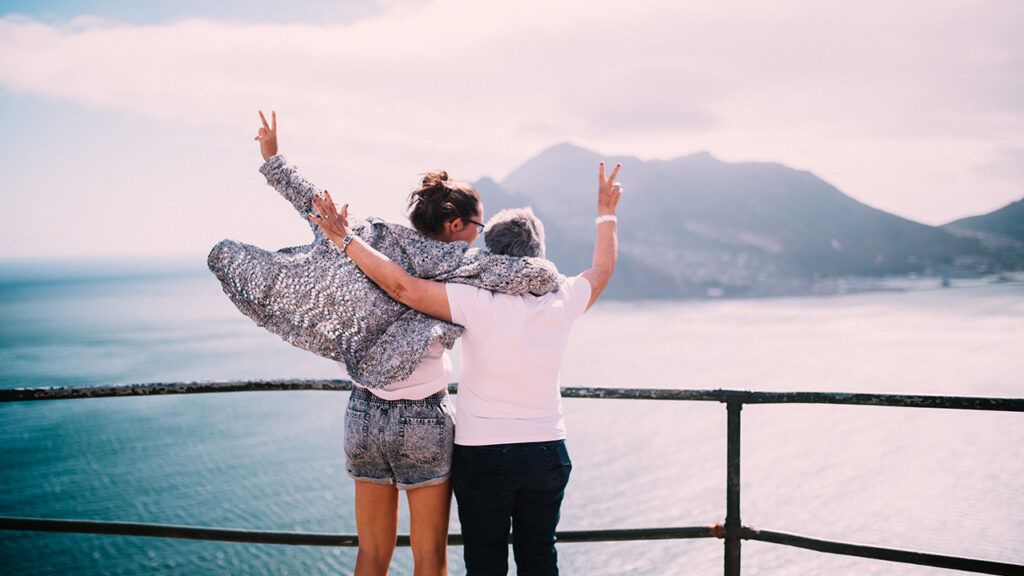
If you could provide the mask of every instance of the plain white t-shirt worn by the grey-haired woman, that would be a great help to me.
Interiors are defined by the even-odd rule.
[[[543,296],[464,284],[445,289],[452,322],[465,328],[455,443],[564,439],[558,374],[569,329],[590,302],[590,282],[568,278],[557,292]]]

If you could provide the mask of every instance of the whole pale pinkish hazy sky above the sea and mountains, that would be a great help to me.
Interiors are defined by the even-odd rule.
[[[0,257],[307,242],[258,109],[389,218],[426,170],[500,180],[563,141],[780,162],[930,224],[1024,197],[1017,0],[76,4],[0,2]]]

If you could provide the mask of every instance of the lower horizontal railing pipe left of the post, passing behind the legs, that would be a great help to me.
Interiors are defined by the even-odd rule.
[[[358,538],[353,534],[266,532],[259,530],[228,530],[223,528],[171,526],[163,524],[41,518],[0,517],[0,530],[59,532],[65,534],[112,534],[117,536],[147,536],[156,538],[179,538],[186,540],[213,540],[220,542],[287,544],[293,546],[358,545]],[[636,540],[712,538],[714,537],[714,533],[710,526],[692,526],[680,528],[638,528],[631,530],[577,530],[558,532],[556,536],[560,543],[626,542]],[[462,534],[449,535],[450,546],[461,546],[462,544]],[[398,536],[398,545],[408,546],[409,536]]]

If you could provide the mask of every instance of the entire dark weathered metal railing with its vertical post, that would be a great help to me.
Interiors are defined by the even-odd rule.
[[[111,386],[80,386],[52,388],[15,388],[0,390],[0,402],[67,400],[80,398],[111,398],[168,394],[204,394],[258,390],[350,390],[348,380],[256,380],[223,382],[175,382]],[[451,390],[457,393],[457,386]],[[602,388],[565,387],[563,398],[606,398],[620,400],[670,400],[720,402],[726,405],[726,516],[725,524],[676,528],[609,529],[560,531],[559,542],[606,542],[663,540],[686,538],[722,538],[724,540],[724,574],[738,576],[742,540],[758,540],[795,546],[833,554],[852,556],[889,562],[963,570],[981,574],[1024,574],[1024,565],[991,562],[953,556],[926,553],[879,546],[865,546],[755,530],[743,526],[739,513],[740,415],[744,404],[844,404],[858,406],[896,406],[910,408],[944,408],[954,410],[989,410],[1024,412],[1024,399],[971,398],[954,396],[904,396],[842,393],[771,393],[744,390],[684,390],[663,388]],[[116,534],[193,540],[217,540],[263,544],[304,546],[356,546],[358,539],[351,534],[312,534],[297,532],[263,532],[227,530],[189,526],[168,526],[80,520],[0,517],[0,530],[61,532],[80,534]],[[398,545],[408,546],[409,536],[398,536]],[[450,545],[462,545],[462,535],[449,536]]]

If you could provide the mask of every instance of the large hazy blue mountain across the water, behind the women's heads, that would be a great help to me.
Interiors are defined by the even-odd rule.
[[[475,182],[487,214],[530,205],[548,256],[567,274],[590,265],[597,165],[623,163],[618,297],[766,296],[828,291],[836,279],[985,272],[995,256],[973,237],[862,204],[806,171],[726,163],[604,158],[552,147],[501,182]]]

